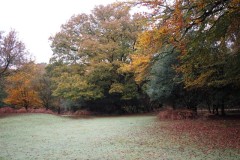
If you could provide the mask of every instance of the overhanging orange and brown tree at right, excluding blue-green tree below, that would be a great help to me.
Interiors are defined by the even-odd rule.
[[[135,1],[151,9],[149,26],[138,38],[138,53],[153,58],[173,45],[180,52],[179,66],[185,88],[218,97],[224,114],[224,101],[239,87],[239,4],[216,1]],[[174,53],[169,51],[169,53]],[[231,63],[232,61],[232,63]],[[149,61],[149,66],[152,60]],[[133,61],[134,63],[134,61]],[[149,73],[149,68],[145,73]],[[142,76],[144,77],[144,76]],[[147,77],[147,75],[145,75]],[[224,93],[224,94],[222,94]],[[223,99],[223,100],[222,100]],[[212,100],[213,101],[213,100]]]

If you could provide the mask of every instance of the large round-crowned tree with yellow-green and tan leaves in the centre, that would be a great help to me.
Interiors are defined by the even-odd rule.
[[[121,101],[130,98],[125,86],[132,86],[128,92],[130,88],[132,93],[137,90],[135,82],[119,71],[122,64],[129,63],[137,34],[142,31],[144,17],[131,15],[130,9],[124,3],[97,6],[90,15],[73,16],[50,38],[54,52],[50,72],[68,70],[52,73],[56,96],[120,109]]]

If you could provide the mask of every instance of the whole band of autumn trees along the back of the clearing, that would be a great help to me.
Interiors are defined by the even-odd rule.
[[[1,107],[239,109],[239,0],[100,5],[72,16],[49,40],[49,64],[35,64],[15,31],[0,32]]]

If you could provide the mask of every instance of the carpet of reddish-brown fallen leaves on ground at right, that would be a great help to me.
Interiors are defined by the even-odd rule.
[[[180,138],[186,135],[191,144],[197,144],[203,150],[240,149],[239,120],[185,120],[174,121],[165,129],[182,144],[189,143]]]

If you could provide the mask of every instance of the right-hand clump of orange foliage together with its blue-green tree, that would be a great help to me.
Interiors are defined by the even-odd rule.
[[[193,110],[204,103],[221,108],[222,115],[227,104],[236,105],[239,0],[135,2],[149,9],[149,21],[138,36],[135,53],[150,59],[147,67],[132,67],[132,73],[136,82],[142,80],[150,99]],[[164,58],[169,55],[175,57]],[[141,61],[145,63],[132,58],[130,66]]]

